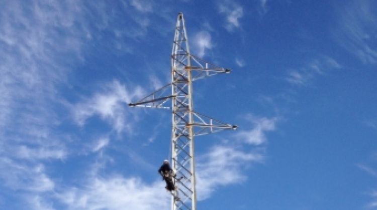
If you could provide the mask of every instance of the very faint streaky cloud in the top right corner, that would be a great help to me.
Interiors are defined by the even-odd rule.
[[[348,1],[337,5],[337,27],[334,40],[364,64],[377,63],[377,3],[372,0]]]

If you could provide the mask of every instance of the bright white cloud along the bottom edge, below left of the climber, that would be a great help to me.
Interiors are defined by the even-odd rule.
[[[167,209],[170,194],[163,181],[150,185],[140,178],[114,175],[91,177],[81,188],[71,187],[58,194],[69,209]]]

